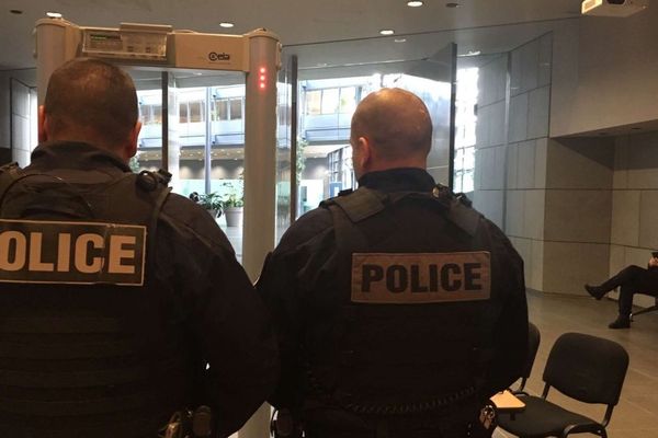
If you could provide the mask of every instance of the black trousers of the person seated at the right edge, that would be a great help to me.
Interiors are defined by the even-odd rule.
[[[605,289],[605,291],[611,291],[619,287],[620,314],[629,315],[635,293],[658,297],[658,267],[649,267],[647,269],[636,265],[626,266],[600,287]]]

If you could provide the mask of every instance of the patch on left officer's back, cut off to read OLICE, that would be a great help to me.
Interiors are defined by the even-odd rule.
[[[0,219],[0,281],[144,285],[146,227]]]

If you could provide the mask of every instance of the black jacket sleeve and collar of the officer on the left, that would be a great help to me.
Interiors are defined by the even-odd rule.
[[[38,146],[27,170],[99,182],[131,172],[118,157],[73,142]],[[114,203],[122,208],[121,199]],[[196,371],[209,365],[204,396],[218,435],[229,435],[271,394],[279,374],[266,309],[216,222],[177,194],[169,195],[158,219],[155,277],[159,302],[145,320],[167,331],[155,337],[184,336],[179,354]]]

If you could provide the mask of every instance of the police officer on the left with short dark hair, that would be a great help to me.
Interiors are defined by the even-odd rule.
[[[279,359],[228,240],[164,173],[131,172],[121,69],[67,62],[38,115],[32,164],[0,175],[0,436],[156,437],[198,406],[198,434],[230,435]]]

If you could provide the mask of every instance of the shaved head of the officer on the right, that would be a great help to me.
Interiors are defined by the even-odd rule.
[[[358,178],[394,168],[424,169],[432,146],[430,113],[417,95],[382,89],[356,107],[350,143]]]

